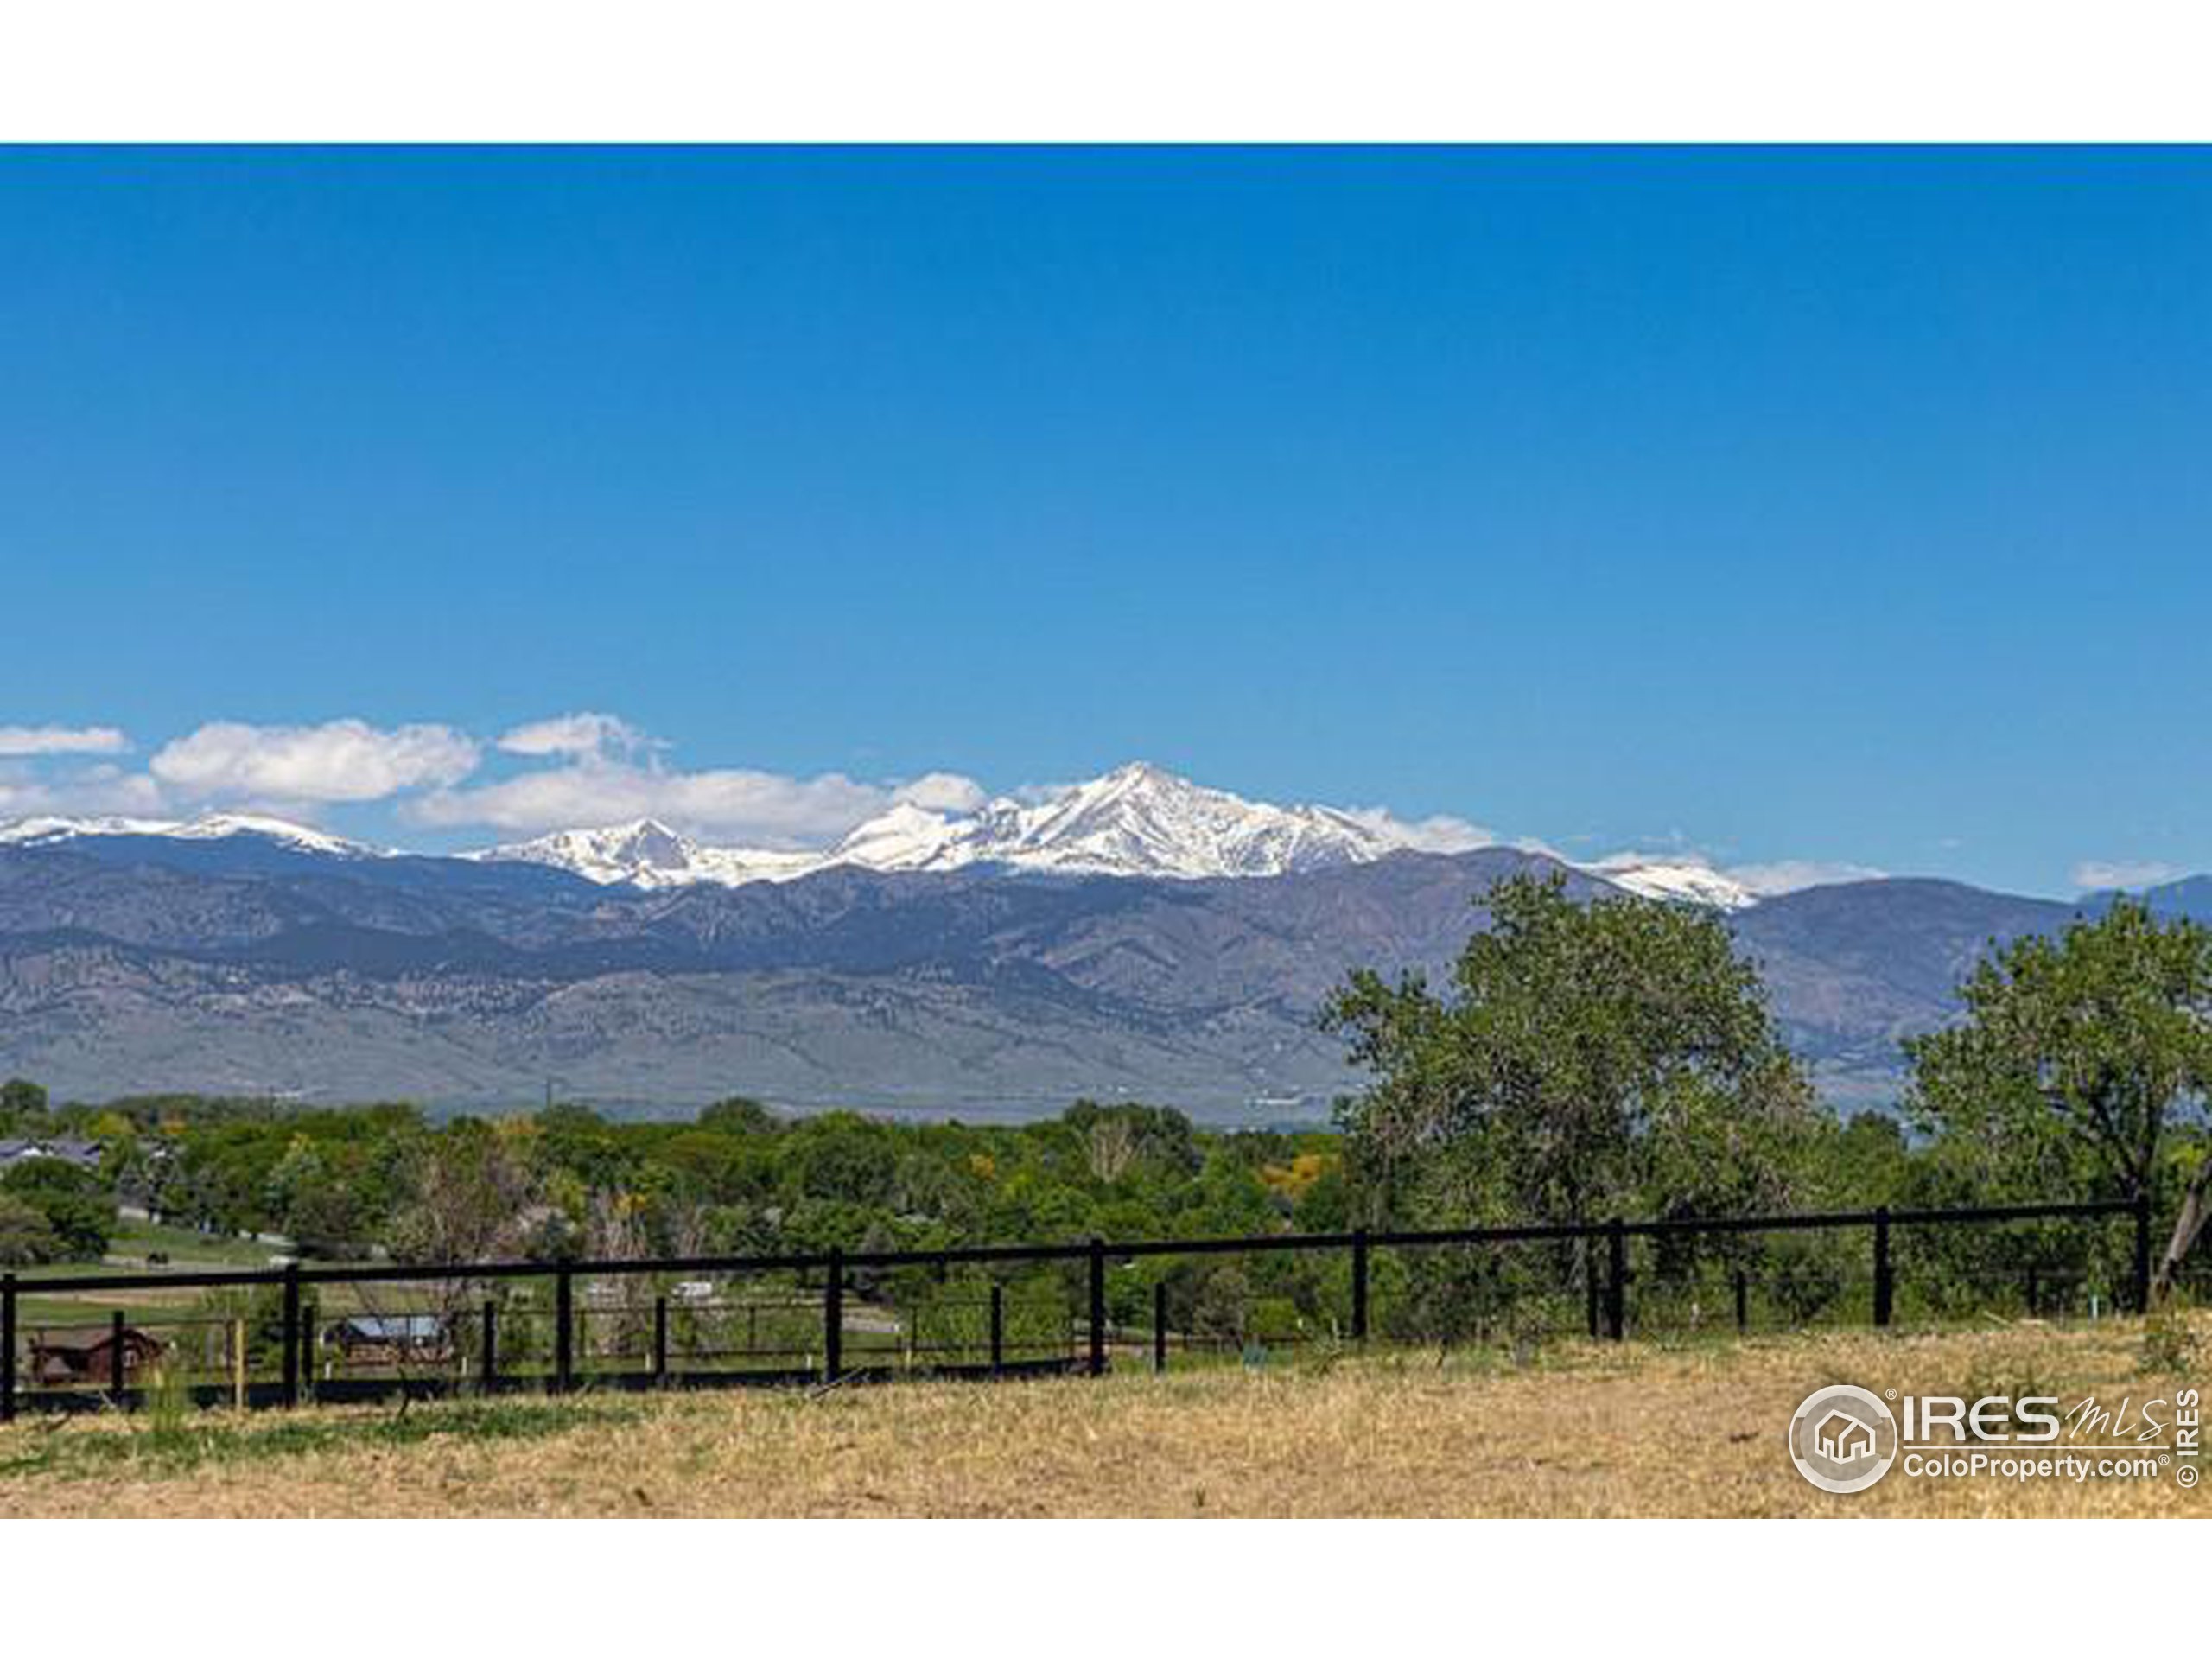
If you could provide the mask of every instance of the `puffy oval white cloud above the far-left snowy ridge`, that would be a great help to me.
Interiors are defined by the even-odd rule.
[[[164,745],[153,757],[153,776],[190,799],[383,801],[458,783],[476,770],[476,739],[451,726],[212,721]]]

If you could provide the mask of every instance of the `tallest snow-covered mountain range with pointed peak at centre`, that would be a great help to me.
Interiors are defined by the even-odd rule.
[[[1206,790],[1141,761],[1040,803],[989,801],[973,812],[900,803],[825,852],[708,847],[644,821],[562,830],[471,858],[557,865],[597,883],[677,887],[792,880],[814,869],[1006,869],[1155,876],[1283,876],[1358,865],[1411,847],[1405,832],[1334,807],[1279,807]]]

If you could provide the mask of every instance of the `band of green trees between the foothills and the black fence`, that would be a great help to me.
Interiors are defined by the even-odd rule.
[[[1568,898],[1511,876],[1444,984],[1360,971],[1323,1018],[1369,1086],[1332,1128],[1210,1130],[1172,1106],[1079,1102],[1029,1124],[783,1117],[723,1099],[690,1121],[584,1106],[434,1119],[409,1104],[279,1108],[159,1095],[51,1104],[0,1086],[0,1137],[80,1135],[0,1177],[0,1261],[104,1248],[115,1201],[334,1259],[580,1259],[936,1250],[1082,1237],[1451,1228],[2150,1194],[2172,1230],[2161,1285],[2203,1225],[2212,933],[2121,902],[1989,951],[1962,1018],[1907,1040],[1898,1113],[1825,1108],[1781,1042],[1721,916]],[[1843,1241],[1721,1239],[1641,1272],[1692,1296],[1752,1272],[1790,1318],[1849,1294]],[[2117,1279],[2106,1243],[2011,1232],[1924,1241],[1929,1296],[2022,1259]],[[1161,1265],[1192,1310],[1327,1323],[1323,1261]],[[1214,1283],[1221,1281],[1221,1283]],[[1562,1318],[1579,1250],[1438,1252],[1385,1270],[1422,1329]],[[1128,1296],[1148,1294],[1130,1283]],[[1119,1292],[1117,1292],[1119,1294]],[[1223,1314],[1230,1318],[1230,1314]]]

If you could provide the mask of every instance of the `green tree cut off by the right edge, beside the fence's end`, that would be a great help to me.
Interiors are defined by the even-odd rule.
[[[1964,1022],[1911,1037],[1907,1110],[1993,1186],[2135,1199],[2185,1170],[2163,1292],[2205,1223],[2212,1179],[2212,929],[2121,900],[2057,938],[1982,958]]]

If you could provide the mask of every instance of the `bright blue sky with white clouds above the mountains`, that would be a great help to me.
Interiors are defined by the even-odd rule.
[[[2070,891],[2212,867],[2208,453],[2203,153],[13,153],[0,816]]]

